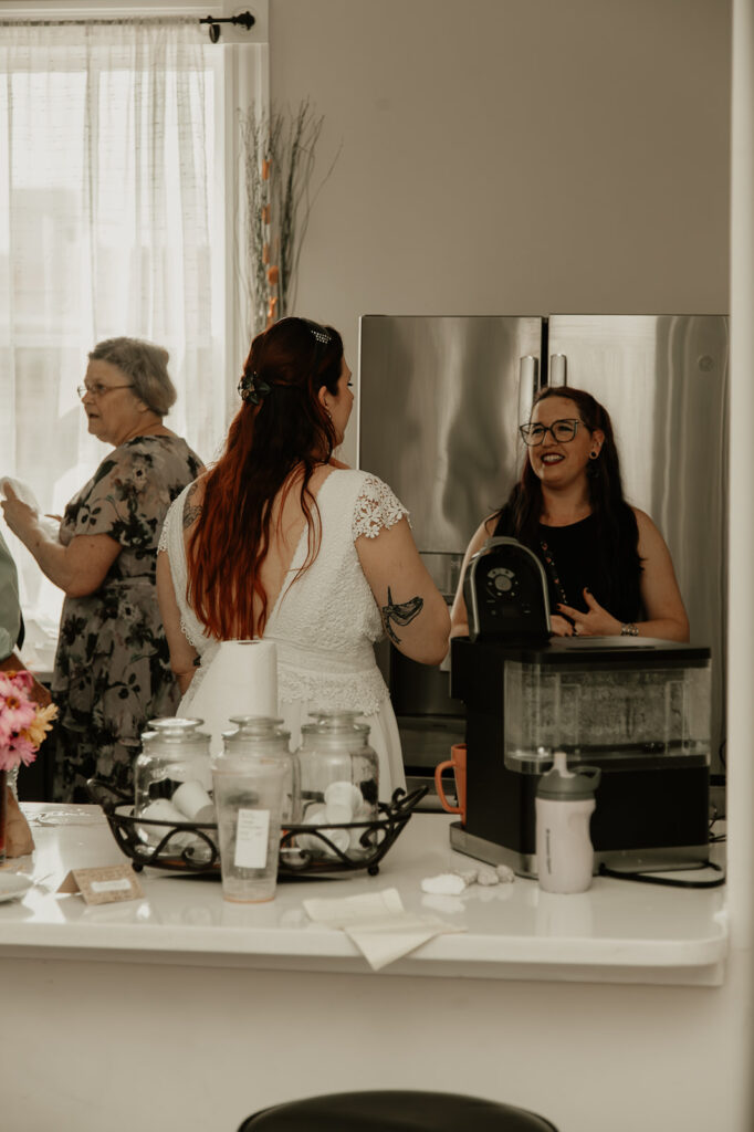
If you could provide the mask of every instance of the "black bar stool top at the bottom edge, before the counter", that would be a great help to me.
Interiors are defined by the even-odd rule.
[[[334,1092],[264,1108],[238,1132],[557,1132],[543,1116],[455,1092]]]

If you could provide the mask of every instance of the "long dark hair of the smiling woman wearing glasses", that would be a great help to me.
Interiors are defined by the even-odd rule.
[[[612,608],[635,610],[632,616],[639,617],[642,571],[639,556],[639,528],[636,516],[623,494],[620,457],[610,414],[591,393],[574,389],[568,385],[546,386],[541,389],[534,398],[532,413],[534,408],[548,397],[573,401],[579,410],[579,417],[589,431],[601,429],[605,434],[599,456],[590,461],[586,469],[589,500],[597,522],[600,548],[599,565],[603,580],[603,600],[609,610]],[[541,512],[542,486],[526,455],[521,477],[513,487],[505,507],[498,512],[498,516],[506,520],[514,538],[537,551]]]

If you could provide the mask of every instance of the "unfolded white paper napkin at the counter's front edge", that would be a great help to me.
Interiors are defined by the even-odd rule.
[[[436,935],[465,932],[464,927],[438,916],[404,911],[396,889],[332,900],[305,900],[303,907],[318,924],[342,928],[375,971],[408,955]]]

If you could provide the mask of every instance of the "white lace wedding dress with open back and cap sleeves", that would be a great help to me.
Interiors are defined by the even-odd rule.
[[[186,491],[168,512],[160,549],[170,559],[181,628],[200,657],[178,709],[181,715],[190,715],[191,701],[219,644],[205,635],[186,601],[185,498]],[[264,633],[264,640],[274,641],[277,649],[279,712],[295,749],[301,723],[310,722],[309,712],[358,711],[360,721],[369,724],[369,743],[379,756],[380,800],[388,801],[396,787],[405,787],[403,757],[395,713],[372,649],[383,636],[382,617],[354,541],[362,534],[376,538],[408,512],[376,475],[350,469],[329,473],[317,494],[317,506],[322,518],[317,558],[295,578],[307,556],[305,526]]]

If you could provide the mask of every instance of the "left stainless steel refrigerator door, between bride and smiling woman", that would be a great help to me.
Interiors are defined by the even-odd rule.
[[[421,551],[462,554],[507,496],[541,329],[539,317],[361,317],[359,466],[409,508]]]

